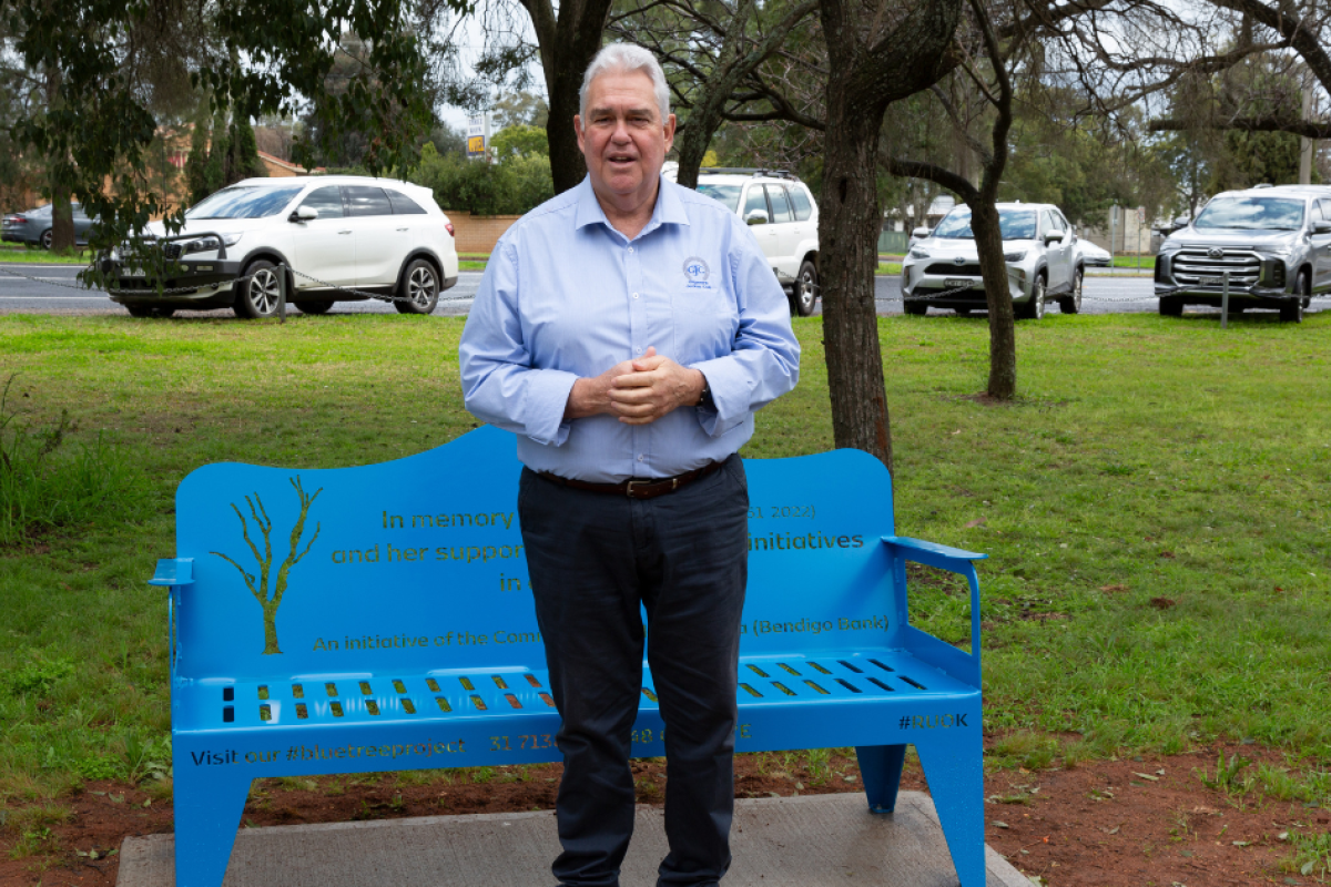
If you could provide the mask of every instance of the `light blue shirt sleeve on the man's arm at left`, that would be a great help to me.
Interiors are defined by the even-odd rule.
[[[546,445],[568,439],[564,407],[578,376],[532,366],[518,305],[519,263],[500,242],[462,331],[458,358],[462,396],[471,415]]]

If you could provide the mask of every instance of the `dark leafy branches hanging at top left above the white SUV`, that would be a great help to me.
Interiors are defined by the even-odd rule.
[[[466,5],[446,0],[438,8]],[[169,90],[157,88],[166,82],[188,82],[209,96],[214,113],[237,120],[290,117],[310,102],[310,120],[326,137],[371,133],[363,162],[383,169],[409,156],[431,118],[431,96],[419,89],[429,69],[411,27],[419,15],[421,4],[397,0],[274,0],[262,11],[174,0],[73,7],[0,0],[12,57],[28,70],[49,72],[55,84],[49,100],[21,113],[11,132],[49,158],[51,181],[98,218],[96,246],[141,234],[169,209],[164,194],[140,181],[145,152],[170,122],[164,117],[176,113],[162,100]],[[330,94],[339,47],[327,37],[353,29],[374,40]],[[298,141],[293,154],[306,162],[309,142]]]

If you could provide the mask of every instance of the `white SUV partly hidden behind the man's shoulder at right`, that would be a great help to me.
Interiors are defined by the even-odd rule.
[[[663,169],[675,181],[677,165]],[[707,168],[697,193],[729,207],[753,227],[759,246],[791,299],[808,317],[819,301],[819,205],[795,174],[768,169]]]

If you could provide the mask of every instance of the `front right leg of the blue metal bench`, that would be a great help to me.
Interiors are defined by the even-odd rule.
[[[980,713],[974,715],[980,721]],[[940,731],[942,733],[942,731]],[[985,767],[980,730],[916,746],[961,887],[985,887]]]

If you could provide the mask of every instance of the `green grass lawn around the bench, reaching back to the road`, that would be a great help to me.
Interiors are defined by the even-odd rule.
[[[0,549],[0,809],[169,762],[172,496],[210,461],[339,467],[474,427],[462,319],[285,326],[0,317],[7,411],[114,447],[146,500]],[[988,330],[878,320],[902,535],[981,564],[993,761],[1046,766],[1217,737],[1331,759],[1331,313],[1051,315],[1018,324],[1021,399],[982,406]],[[823,328],[796,320],[799,390],[751,457],[832,447]],[[966,597],[912,596],[965,642]],[[1331,783],[1328,783],[1331,785]],[[1328,798],[1331,801],[1331,798]]]

